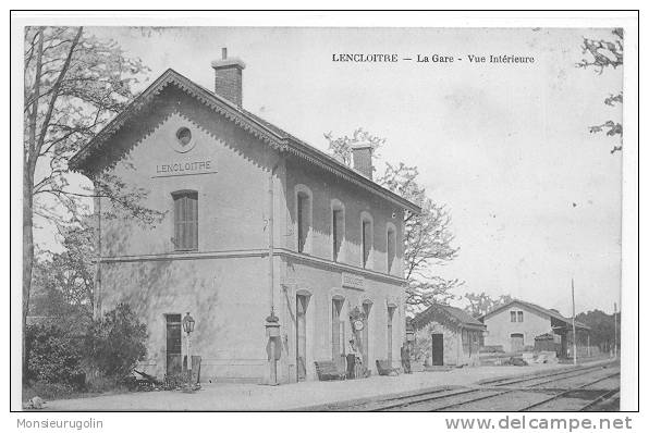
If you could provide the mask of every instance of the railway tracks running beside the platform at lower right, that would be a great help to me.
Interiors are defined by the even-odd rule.
[[[604,410],[619,406],[620,369],[612,363],[500,378],[340,407],[363,411]],[[612,410],[612,409],[608,409]]]

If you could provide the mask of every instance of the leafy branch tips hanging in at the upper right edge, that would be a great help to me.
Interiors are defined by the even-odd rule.
[[[613,40],[584,38],[581,51],[587,58],[577,63],[578,67],[592,67],[597,73],[602,74],[608,67],[617,69],[624,61],[624,30],[615,28],[612,30]],[[623,102],[623,91],[611,94],[604,99],[604,103],[614,107]],[[599,125],[590,126],[591,133],[605,132],[608,136],[620,136],[620,146],[614,146],[611,153],[622,151],[622,123],[612,120]]]

